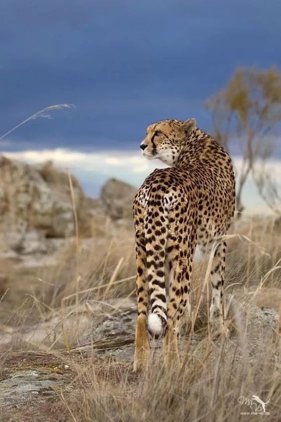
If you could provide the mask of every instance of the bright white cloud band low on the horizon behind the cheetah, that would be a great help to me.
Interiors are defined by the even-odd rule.
[[[98,195],[99,187],[109,177],[116,177],[139,187],[145,177],[155,168],[165,165],[158,160],[145,160],[139,152],[130,151],[102,151],[85,153],[81,151],[57,148],[53,150],[26,150],[18,152],[4,152],[6,157],[40,163],[52,160],[61,169],[69,167],[79,178],[82,186],[89,195]],[[234,157],[235,173],[242,168],[242,159]],[[257,163],[257,169],[262,170],[262,164]],[[272,160],[267,165],[275,178],[281,179],[281,162]],[[249,212],[268,211],[264,202],[259,198],[255,185],[251,179],[245,185],[243,201]]]

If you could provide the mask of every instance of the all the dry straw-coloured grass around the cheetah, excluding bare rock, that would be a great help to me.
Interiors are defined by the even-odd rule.
[[[281,240],[271,221],[252,221],[239,230],[241,235],[228,239],[226,271],[226,306],[234,298],[235,303],[266,306],[280,311],[281,302]],[[18,270],[7,278],[6,286],[13,285],[17,291],[29,293],[27,303],[21,307],[16,302],[12,317],[2,316],[6,327],[17,330],[32,318],[45,321],[50,315],[62,315],[62,309],[84,307],[87,302],[107,302],[117,297],[134,297],[135,250],[133,233],[120,230],[112,234],[108,226],[105,236],[77,243],[66,244],[57,256],[53,267],[28,269],[24,287],[19,289]],[[122,233],[122,234],[121,234]],[[250,241],[247,238],[251,239]],[[1,409],[1,421],[279,421],[281,414],[281,351],[278,332],[264,333],[259,343],[259,353],[252,359],[253,338],[245,338],[243,328],[232,320],[228,322],[233,337],[227,342],[214,345],[208,338],[208,300],[206,288],[201,297],[207,262],[195,263],[191,289],[193,310],[198,307],[194,321],[195,340],[186,355],[184,370],[162,368],[158,355],[143,375],[132,373],[132,363],[115,358],[101,359],[87,348],[74,351],[75,336],[70,337],[63,329],[59,341],[51,349],[52,355],[41,351],[42,360],[56,356],[60,362],[67,360],[72,368],[68,388],[59,389],[56,397],[37,401],[32,406],[22,406],[11,418],[9,408]],[[10,270],[10,269],[9,269]],[[13,281],[12,281],[13,280]],[[29,283],[28,283],[29,280]],[[9,284],[9,283],[13,284]],[[13,293],[15,294],[15,293]],[[29,298],[28,298],[29,297]],[[12,303],[9,293],[3,298]],[[34,299],[35,298],[35,299]],[[21,297],[21,299],[24,299]],[[17,299],[18,300],[18,299]],[[234,306],[235,307],[235,306]],[[233,308],[233,307],[232,307]],[[233,309],[232,309],[233,310]],[[98,326],[103,315],[91,315],[92,324]],[[74,311],[71,311],[72,313]],[[103,311],[105,312],[105,311]],[[120,315],[107,309],[111,315]],[[81,313],[80,313],[81,314]],[[280,313],[281,315],[281,313]],[[281,321],[280,321],[281,325]],[[277,330],[278,331],[278,330]],[[188,331],[189,332],[189,331]],[[235,337],[234,337],[235,336]],[[234,341],[234,339],[237,339]],[[125,341],[126,338],[120,339]],[[94,339],[95,340],[95,339]],[[105,341],[105,340],[104,340]],[[116,342],[107,339],[109,348]],[[128,340],[132,343],[132,339]],[[187,342],[187,341],[186,341]],[[102,343],[102,342],[101,342]],[[126,343],[124,343],[126,344]],[[119,346],[121,343],[119,344]],[[100,344],[101,346],[101,344]],[[2,356],[2,365],[9,356],[16,356],[16,349]],[[22,342],[20,350],[36,350],[31,343]],[[76,350],[79,350],[79,348]],[[69,353],[67,353],[70,352]],[[64,352],[63,354],[61,354]],[[183,352],[184,353],[184,352]],[[37,355],[36,355],[37,356]],[[39,360],[40,360],[39,359]],[[36,357],[38,361],[38,356]],[[36,361],[36,362],[37,362]],[[238,403],[240,396],[251,399],[258,395],[264,401],[271,398],[267,410],[269,416],[242,415],[253,411]],[[47,403],[47,405],[46,405]]]

